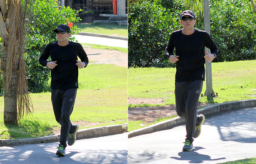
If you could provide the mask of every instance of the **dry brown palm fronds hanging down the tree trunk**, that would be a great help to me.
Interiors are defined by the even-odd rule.
[[[12,0],[14,7],[11,12],[11,19],[8,24],[8,49],[7,62],[5,72],[4,95],[11,87],[16,88],[18,121],[24,114],[32,113],[33,104],[28,92],[28,83],[25,69],[25,47],[24,42],[28,29],[26,27],[26,13],[29,12],[28,7],[31,6],[31,0]],[[8,5],[11,6],[9,1]],[[9,6],[9,7],[10,7]],[[32,110],[32,111],[31,111]]]

